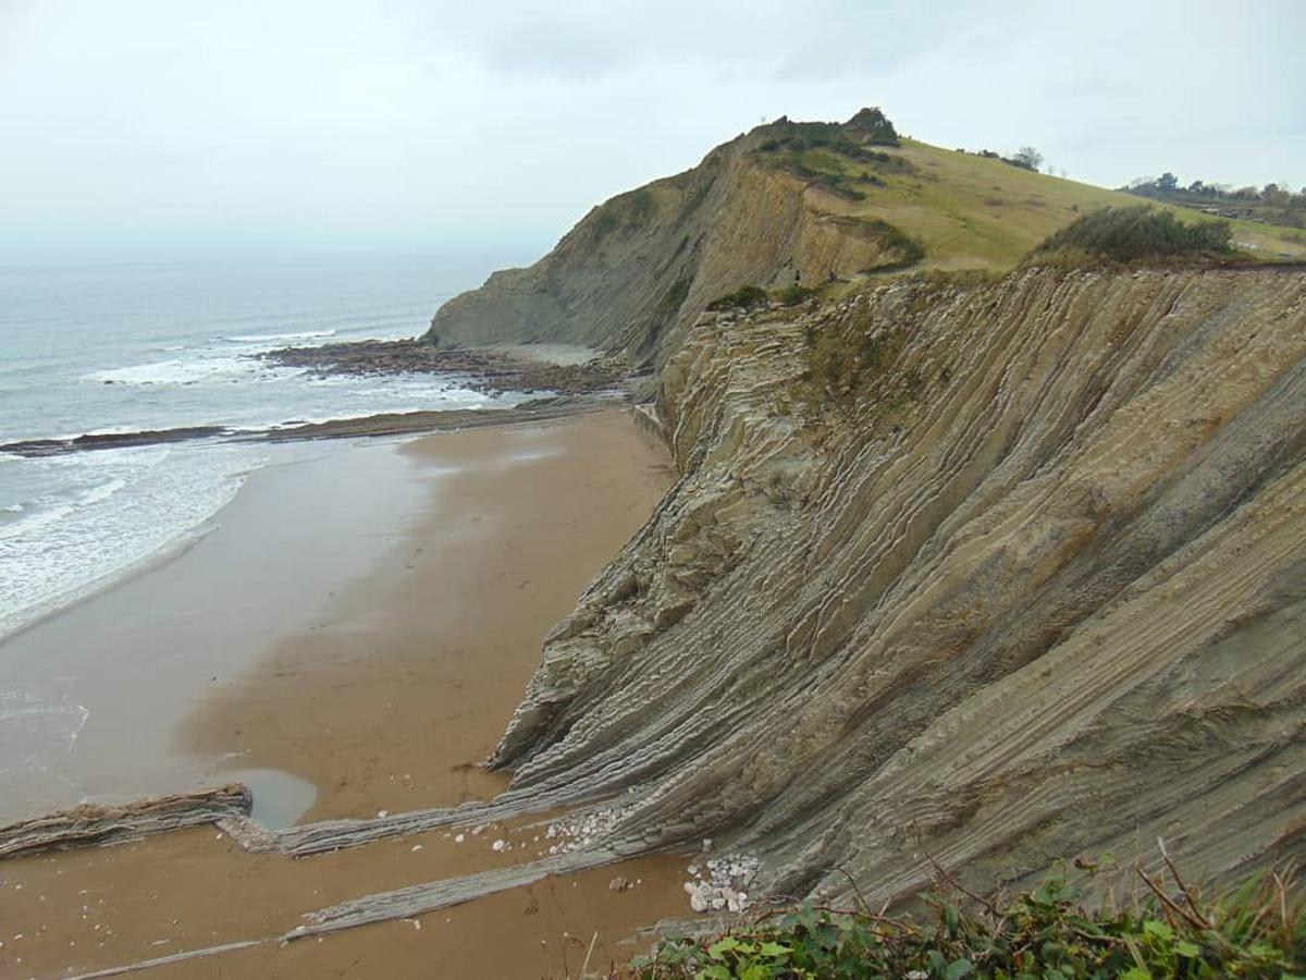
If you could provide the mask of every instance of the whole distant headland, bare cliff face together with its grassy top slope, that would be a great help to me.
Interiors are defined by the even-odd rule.
[[[445,303],[426,338],[562,341],[661,366],[713,299],[743,285],[855,281],[904,265],[1008,269],[1081,208],[1131,200],[897,144],[875,110],[842,125],[757,127],[692,170],[594,208],[530,268]]]

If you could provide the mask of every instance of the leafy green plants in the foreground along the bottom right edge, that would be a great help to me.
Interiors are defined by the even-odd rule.
[[[1169,864],[1169,860],[1166,861]],[[1174,873],[1173,865],[1170,865]],[[1164,889],[1139,872],[1147,898],[1091,911],[1064,873],[1011,900],[960,890],[922,895],[929,916],[804,903],[705,939],[667,939],[636,960],[641,980],[1152,980],[1276,977],[1306,971],[1306,915],[1293,882],[1267,874],[1205,899],[1174,874]]]

